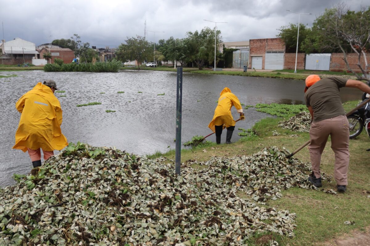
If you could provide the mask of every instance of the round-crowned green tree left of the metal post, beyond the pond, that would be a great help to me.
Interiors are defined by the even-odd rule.
[[[144,37],[136,36],[127,37],[125,40],[126,44],[118,46],[118,50],[115,52],[117,59],[122,62],[128,62],[129,60],[135,60],[140,69],[140,64],[145,61],[146,58],[153,57],[153,49],[148,41]]]

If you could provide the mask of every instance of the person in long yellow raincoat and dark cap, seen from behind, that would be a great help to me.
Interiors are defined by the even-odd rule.
[[[47,160],[54,155],[54,149],[61,150],[68,145],[60,129],[62,110],[54,96],[55,90],[58,89],[54,80],[39,82],[16,103],[21,118],[13,149],[28,150],[33,167],[41,166],[40,148]]]

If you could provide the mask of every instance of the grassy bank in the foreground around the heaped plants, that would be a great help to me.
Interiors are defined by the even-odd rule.
[[[352,101],[344,104],[344,108],[349,112],[358,102]],[[306,132],[292,132],[288,129],[277,127],[277,122],[282,118],[266,118],[256,123],[253,127],[258,134],[258,138],[251,140],[240,139],[230,145],[215,143],[209,146],[198,146],[194,149],[184,149],[181,152],[181,162],[189,159],[199,161],[209,160],[212,156],[234,156],[250,155],[256,153],[264,147],[277,146],[287,148],[291,152],[309,140]],[[248,120],[248,110],[246,110],[246,120]],[[238,123],[236,123],[237,126]],[[272,131],[276,130],[280,135],[273,136]],[[234,134],[237,134],[235,130]],[[206,134],[206,133],[205,133]],[[297,137],[289,137],[297,134]],[[226,137],[225,131],[222,138]],[[188,139],[183,139],[187,141]],[[189,139],[190,140],[190,139]],[[291,188],[282,192],[283,197],[269,201],[266,207],[289,210],[295,212],[296,236],[294,238],[280,237],[273,235],[279,245],[324,245],[334,238],[350,235],[354,229],[364,230],[370,225],[370,153],[366,149],[370,148],[370,138],[366,132],[362,132],[356,139],[350,140],[350,165],[348,171],[349,185],[344,194],[327,194],[320,190],[305,190],[301,188]],[[207,152],[203,152],[205,149]],[[154,156],[161,155],[156,153]],[[174,150],[163,154],[163,156],[175,159]],[[310,162],[307,147],[303,148],[294,156],[303,162]],[[322,155],[321,169],[323,172],[333,175],[334,153],[330,149],[330,139]],[[195,166],[200,169],[200,166]],[[308,177],[308,175],[307,175]],[[336,183],[323,181],[323,188],[336,191]],[[243,196],[244,194],[239,194]],[[262,205],[264,206],[264,205]],[[346,225],[344,221],[354,221],[353,225]],[[266,236],[266,233],[263,233]],[[256,235],[251,239],[250,245],[258,244],[262,235]]]

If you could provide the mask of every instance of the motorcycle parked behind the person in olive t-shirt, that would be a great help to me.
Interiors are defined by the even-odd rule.
[[[369,99],[370,95],[364,93],[362,96],[363,101]],[[357,104],[358,105],[358,104]],[[356,138],[362,132],[364,126],[367,135],[370,137],[370,103],[365,104],[363,107],[354,111],[347,116],[349,122],[349,138]]]

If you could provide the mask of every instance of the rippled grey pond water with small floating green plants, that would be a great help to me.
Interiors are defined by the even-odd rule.
[[[55,80],[59,89],[65,90],[65,93],[55,93],[55,96],[63,110],[61,129],[68,142],[115,146],[139,155],[175,148],[175,72],[0,72],[0,75],[10,74],[17,77],[0,79],[0,186],[13,184],[13,173],[27,174],[32,168],[27,152],[11,149],[20,119],[15,103],[37,82],[45,79]],[[194,135],[211,133],[208,124],[212,120],[219,93],[225,86],[245,105],[304,103],[303,80],[184,73],[182,143],[191,140]],[[118,94],[117,91],[125,93]],[[163,93],[165,95],[158,96]],[[356,89],[342,89],[341,93],[343,101],[361,98],[361,92]],[[76,107],[77,104],[95,101],[102,104]],[[116,112],[107,113],[105,110]],[[251,128],[257,121],[269,116],[254,108],[244,111],[246,120],[236,123],[232,141],[239,138],[237,128]],[[232,114],[234,119],[239,118],[234,107]],[[221,142],[225,142],[226,132],[221,138]],[[207,139],[215,142],[215,135]]]

